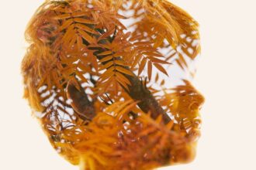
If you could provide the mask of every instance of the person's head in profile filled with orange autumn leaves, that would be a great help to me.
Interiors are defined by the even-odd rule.
[[[189,71],[198,23],[166,0],[46,1],[26,30],[25,97],[51,145],[85,169],[189,162],[202,95]]]

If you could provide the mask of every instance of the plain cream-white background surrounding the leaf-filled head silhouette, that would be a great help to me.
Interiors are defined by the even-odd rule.
[[[26,23],[42,0],[1,0],[0,169],[74,170],[51,148],[22,99]],[[172,0],[199,21],[195,86],[205,95],[198,155],[177,170],[256,169],[256,1]]]

